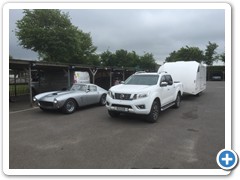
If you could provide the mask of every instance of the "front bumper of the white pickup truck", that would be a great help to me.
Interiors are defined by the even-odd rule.
[[[113,99],[107,95],[106,107],[109,111],[117,111],[122,113],[135,113],[135,114],[149,114],[151,110],[151,103],[147,98],[135,100],[119,100]]]

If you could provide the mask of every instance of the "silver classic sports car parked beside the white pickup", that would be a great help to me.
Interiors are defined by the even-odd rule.
[[[36,95],[33,101],[42,110],[60,109],[66,114],[78,107],[106,104],[107,91],[95,84],[74,84],[69,91],[52,91]]]

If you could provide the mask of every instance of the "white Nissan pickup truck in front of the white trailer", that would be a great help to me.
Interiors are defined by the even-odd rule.
[[[111,117],[135,113],[146,115],[149,122],[156,122],[160,111],[180,106],[182,93],[182,83],[173,82],[166,72],[137,72],[109,89],[106,107]]]

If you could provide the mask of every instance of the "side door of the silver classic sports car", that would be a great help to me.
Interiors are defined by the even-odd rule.
[[[97,92],[97,87],[94,85],[88,85],[88,89],[84,96],[84,101],[86,104],[95,104],[99,102],[99,94]]]

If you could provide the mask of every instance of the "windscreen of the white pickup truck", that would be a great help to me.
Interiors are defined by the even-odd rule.
[[[151,86],[157,84],[158,78],[158,75],[132,75],[125,81],[125,84]]]

